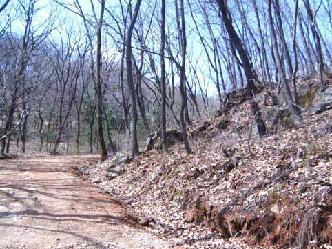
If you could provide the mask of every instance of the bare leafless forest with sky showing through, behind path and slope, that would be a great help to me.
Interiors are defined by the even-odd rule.
[[[309,0],[3,1],[1,153],[29,144],[105,159],[130,144],[136,155],[150,132],[176,127],[189,152],[191,121],[264,85],[300,120],[295,78],[324,84],[331,11]],[[252,115],[264,134],[254,101]]]

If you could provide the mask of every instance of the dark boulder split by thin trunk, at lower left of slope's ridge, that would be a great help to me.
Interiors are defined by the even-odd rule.
[[[182,142],[182,134],[178,130],[167,130],[166,132],[166,143],[167,146],[171,146],[176,142]],[[152,149],[161,150],[163,145],[161,144],[161,132],[153,132],[147,138],[147,145],[145,146],[145,150],[149,151]]]

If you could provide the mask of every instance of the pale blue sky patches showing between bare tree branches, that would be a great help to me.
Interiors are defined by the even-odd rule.
[[[3,3],[4,0],[0,0],[0,3]],[[27,0],[23,0],[23,1],[27,1]],[[60,0],[59,0],[60,1]],[[95,7],[96,7],[96,12],[98,15],[98,8],[99,8],[99,4],[98,1],[93,0],[95,3]],[[63,3],[68,3],[68,4],[72,4],[73,1],[71,0],[61,0],[61,2]],[[151,3],[153,3],[153,1],[150,1]],[[249,4],[250,1],[244,1],[244,4]],[[259,5],[261,6],[262,10],[264,10],[264,6],[266,6],[262,1],[257,1],[259,3]],[[171,1],[172,3],[172,1]],[[293,3],[293,1],[291,1],[291,3]],[[318,4],[320,3],[320,1],[311,1],[311,4],[313,6],[313,9],[318,8]],[[329,0],[323,0],[323,2],[326,6],[330,6],[331,11],[332,11],[332,2]],[[147,9],[147,5],[149,4],[149,1],[143,1],[143,6],[141,7],[141,13],[142,13],[142,17],[144,17],[145,22],[149,21],[149,12],[145,11]],[[235,4],[235,1],[230,1],[229,2],[230,6]],[[282,1],[280,3],[280,5],[282,6]],[[91,11],[91,6],[90,6],[90,1],[88,0],[84,0],[81,1],[81,6],[83,8],[83,11],[86,12],[87,14],[92,14]],[[114,0],[107,0],[107,6],[112,6],[112,8],[115,8],[116,6],[118,6],[118,1],[114,1]],[[153,5],[150,5],[149,11],[151,12]],[[292,8],[293,6],[291,6]],[[8,6],[8,8],[6,8],[5,11],[3,11],[1,14],[3,15],[3,17],[1,18],[0,21],[0,25],[3,26],[4,23],[6,23],[6,20],[8,20],[9,18],[11,19],[15,19],[15,21],[13,21],[12,23],[12,32],[16,32],[16,33],[20,33],[23,30],[23,22],[24,20],[22,19],[22,17],[19,16],[19,13],[16,12],[16,10],[19,8],[18,6],[18,0],[12,0]],[[59,23],[65,23],[65,27],[71,27],[73,32],[85,32],[82,22],[81,22],[81,18],[79,18],[76,14],[73,14],[72,12],[65,10],[64,8],[61,8],[60,6],[58,6],[56,3],[54,3],[54,1],[52,0],[39,0],[37,2],[37,8],[40,8],[39,11],[37,12],[37,15],[34,19],[34,27],[38,27],[41,25],[41,23],[43,23],[45,20],[48,20],[49,17],[52,16],[56,16],[56,19],[54,19],[54,26],[59,26]],[[72,8],[72,7],[70,7]],[[172,12],[172,6],[168,5],[167,6],[168,10],[169,10],[169,14],[174,14]],[[300,1],[300,8],[303,8],[302,6],[302,1]],[[73,8],[74,9],[74,8]],[[324,9],[322,8],[322,6],[320,6],[320,11],[318,12],[319,15],[319,19],[318,19],[318,26],[320,28],[320,31],[322,32],[322,36],[325,37],[325,41],[328,43],[327,46],[330,46],[331,48],[331,43],[330,41],[332,40],[332,27],[329,26],[329,19],[326,16],[325,12],[323,11]],[[293,10],[287,10],[287,9],[282,9],[282,12],[286,12],[284,14],[289,15],[289,17],[293,16]],[[290,12],[290,13],[289,13]],[[289,14],[287,14],[289,13]],[[250,19],[253,19],[253,13],[248,11],[247,13],[247,17]],[[192,61],[194,63],[194,65],[197,65],[197,74],[198,77],[200,78],[201,82],[205,82],[208,84],[207,90],[209,92],[209,94],[216,94],[216,90],[215,90],[215,86],[214,83],[211,82],[211,79],[214,79],[214,75],[210,75],[209,72],[209,65],[207,63],[207,57],[205,56],[205,52],[203,52],[203,48],[200,44],[200,41],[198,39],[198,36],[194,30],[194,25],[193,22],[191,21],[191,17],[190,14],[187,14],[187,35],[188,35],[188,54],[190,54],[194,60]],[[197,20],[201,20],[202,17],[200,16],[196,16]],[[112,22],[110,21],[110,17],[107,17],[107,13],[105,13],[105,19],[107,21],[109,21],[111,24]],[[234,15],[234,19],[239,19],[236,15]],[[214,26],[216,28],[216,32],[218,32],[218,29],[220,27],[220,20],[216,19],[218,21],[218,23],[216,23],[216,25]],[[174,20],[169,19],[169,22],[167,23],[168,26],[173,26],[175,25]],[[265,23],[266,24],[266,23]],[[238,23],[239,27],[240,23]],[[1,27],[0,26],[0,27]],[[255,25],[252,26],[252,28],[255,28]],[[41,28],[40,28],[41,29]],[[38,30],[37,30],[38,32]],[[154,36],[149,38],[149,43],[147,44],[147,46],[149,46],[149,48],[151,50],[154,50],[156,52],[158,52],[158,42],[156,43],[156,41],[158,41],[158,27],[155,27],[154,30],[152,30],[152,32],[155,33]],[[207,33],[205,34],[207,35]],[[52,39],[54,41],[61,39],[59,36],[59,29],[58,30],[54,30],[54,32],[52,32]],[[104,35],[105,37],[105,35]],[[291,36],[289,36],[290,38]],[[299,39],[299,38],[298,38]],[[300,41],[299,41],[300,42]],[[112,43],[112,39],[110,39],[110,37],[107,38],[107,50],[114,50],[114,52],[116,52],[116,50],[118,49],[118,44],[114,44]],[[104,48],[105,49],[105,48]],[[189,65],[189,63],[187,63],[187,65]],[[224,64],[225,67],[225,64]],[[189,72],[188,72],[189,73]],[[225,72],[224,72],[225,74]],[[227,77],[225,77],[227,79]]]

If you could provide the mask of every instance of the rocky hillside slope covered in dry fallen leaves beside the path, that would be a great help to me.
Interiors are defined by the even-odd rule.
[[[253,128],[249,102],[234,102],[220,117],[188,128],[191,155],[176,143],[169,155],[143,152],[116,179],[105,177],[107,163],[86,173],[135,215],[152,217],[149,229],[184,248],[328,248],[331,75],[326,82],[322,89],[318,78],[298,81],[300,125],[282,100],[274,105],[276,93],[264,90],[264,137]]]

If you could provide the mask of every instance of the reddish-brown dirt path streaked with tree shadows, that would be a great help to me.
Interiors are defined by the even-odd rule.
[[[95,156],[0,161],[0,248],[171,248],[134,228],[101,189],[73,174]]]

